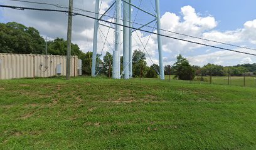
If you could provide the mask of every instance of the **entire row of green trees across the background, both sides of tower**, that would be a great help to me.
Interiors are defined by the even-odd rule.
[[[0,53],[15,54],[45,54],[45,39],[40,36],[40,32],[34,27],[26,27],[17,22],[0,23]],[[67,52],[67,41],[56,38],[47,42],[48,54],[65,56]],[[92,52],[83,53],[77,44],[72,43],[73,56],[82,59],[82,74],[91,75]],[[97,73],[100,76],[112,76],[112,54],[107,52],[103,59],[97,54]],[[127,69],[122,66],[120,58],[120,70]],[[157,64],[147,65],[146,54],[143,51],[135,50],[132,58],[132,72],[134,78],[157,78],[159,66]],[[220,66],[216,64],[206,64],[203,67],[191,66],[188,59],[179,54],[173,66],[164,67],[164,74],[175,75],[174,78],[190,80],[195,76],[242,76],[244,73],[256,74],[256,64],[239,64],[237,66]]]

